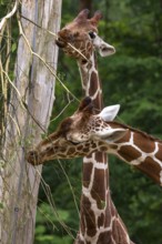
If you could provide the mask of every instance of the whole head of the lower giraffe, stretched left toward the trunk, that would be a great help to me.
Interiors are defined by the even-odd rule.
[[[125,129],[109,125],[119,105],[107,106],[99,114],[94,114],[93,110],[92,100],[84,98],[73,115],[64,119],[54,133],[28,152],[28,162],[37,165],[53,159],[72,159],[108,151],[109,144],[126,133]]]

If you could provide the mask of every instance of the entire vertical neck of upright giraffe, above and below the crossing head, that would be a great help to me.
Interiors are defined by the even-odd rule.
[[[78,64],[83,92],[93,100],[94,109],[99,112],[103,102],[95,54],[92,53],[85,64],[81,62]],[[108,156],[103,152],[83,157],[81,220],[75,244],[131,243],[126,228],[111,200],[108,167]]]

